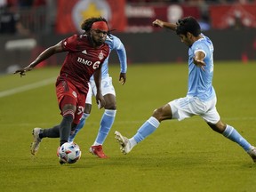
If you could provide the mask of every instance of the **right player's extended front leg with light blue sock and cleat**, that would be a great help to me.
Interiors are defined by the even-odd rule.
[[[157,108],[153,115],[140,126],[139,130],[131,139],[127,139],[120,132],[115,132],[116,140],[121,146],[121,151],[124,154],[129,153],[139,142],[145,140],[148,135],[155,132],[159,124],[166,119],[172,119],[172,109],[170,103],[161,108]]]

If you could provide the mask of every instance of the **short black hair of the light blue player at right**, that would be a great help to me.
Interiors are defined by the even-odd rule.
[[[201,34],[201,28],[199,23],[193,17],[186,17],[178,20],[176,23],[176,34],[187,36],[187,33],[191,33],[193,36],[199,36]]]

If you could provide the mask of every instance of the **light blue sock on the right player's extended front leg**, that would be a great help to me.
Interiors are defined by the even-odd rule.
[[[156,128],[159,126],[159,121],[151,116],[148,121],[146,121],[142,126],[140,126],[140,129],[138,132],[133,136],[133,139],[138,143],[141,140],[144,140],[146,137],[148,137],[149,134],[156,131]]]

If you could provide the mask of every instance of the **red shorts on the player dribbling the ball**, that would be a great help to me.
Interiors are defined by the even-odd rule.
[[[74,124],[79,124],[79,121],[84,112],[86,95],[84,92],[78,92],[76,87],[67,80],[60,80],[56,84],[56,95],[61,110],[62,106],[72,104],[76,106]],[[61,112],[62,115],[62,112]]]

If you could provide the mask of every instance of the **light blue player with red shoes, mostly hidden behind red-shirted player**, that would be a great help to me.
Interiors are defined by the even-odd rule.
[[[82,28],[85,30],[85,33],[86,31],[90,31],[88,25],[84,26],[83,23],[82,26]],[[119,82],[121,84],[125,84],[127,58],[124,44],[117,36],[114,36],[112,34],[109,34],[107,36],[106,44],[108,44],[110,52],[112,50],[115,50],[118,55],[118,59],[120,62]],[[106,156],[103,152],[103,143],[107,139],[108,132],[110,132],[110,129],[114,124],[116,118],[116,91],[114,85],[112,84],[112,77],[109,76],[108,73],[108,58],[104,61],[101,68],[101,92],[104,97],[104,100],[106,101],[106,105],[104,106],[105,110],[100,119],[100,127],[98,134],[92,146],[89,148],[89,151],[92,153],[92,155],[98,156],[100,158],[108,158],[108,156]],[[85,101],[84,114],[80,120],[80,123],[77,124],[76,130],[72,132],[69,136],[68,142],[73,142],[76,137],[76,134],[80,132],[80,130],[84,127],[85,122],[91,114],[92,96],[95,96],[96,93],[96,85],[94,82],[94,78],[92,76],[89,84],[89,92],[87,94]]]

